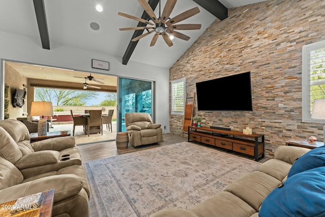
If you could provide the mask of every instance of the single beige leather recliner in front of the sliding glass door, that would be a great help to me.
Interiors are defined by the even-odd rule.
[[[152,123],[148,113],[126,113],[125,125],[128,143],[133,146],[163,141],[163,129],[159,123]]]

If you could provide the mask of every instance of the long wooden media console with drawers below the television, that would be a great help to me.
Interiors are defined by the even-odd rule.
[[[197,141],[226,150],[254,156],[255,161],[264,158],[264,135],[243,134],[239,131],[217,130],[206,127],[188,127],[188,142]]]

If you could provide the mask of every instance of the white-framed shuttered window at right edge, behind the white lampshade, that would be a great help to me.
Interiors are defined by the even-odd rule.
[[[315,99],[325,99],[325,41],[303,46],[303,121],[324,122],[312,119]]]

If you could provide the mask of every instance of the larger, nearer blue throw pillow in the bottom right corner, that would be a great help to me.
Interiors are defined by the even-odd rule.
[[[288,178],[265,198],[258,216],[325,216],[325,167]]]

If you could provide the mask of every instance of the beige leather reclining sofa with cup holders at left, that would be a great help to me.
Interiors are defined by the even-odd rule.
[[[0,120],[0,203],[54,189],[52,216],[89,216],[90,187],[74,137],[30,143],[18,120]]]

